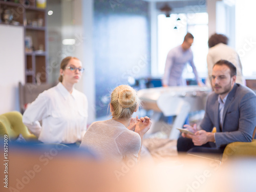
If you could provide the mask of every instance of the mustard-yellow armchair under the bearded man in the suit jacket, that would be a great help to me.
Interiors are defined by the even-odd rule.
[[[256,126],[252,135],[251,142],[229,143],[223,152],[222,161],[233,157],[256,157],[256,139],[254,139]]]

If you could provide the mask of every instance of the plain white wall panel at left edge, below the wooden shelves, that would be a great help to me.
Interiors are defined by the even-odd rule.
[[[25,82],[24,28],[0,25],[0,114],[19,111],[18,82]]]

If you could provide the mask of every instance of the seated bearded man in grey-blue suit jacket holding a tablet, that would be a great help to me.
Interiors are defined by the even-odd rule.
[[[250,142],[256,125],[256,95],[236,83],[236,67],[227,60],[219,60],[212,68],[214,89],[206,101],[204,118],[199,129],[184,125],[192,134],[182,133],[178,152],[222,154],[228,143]],[[216,133],[212,132],[216,130]]]

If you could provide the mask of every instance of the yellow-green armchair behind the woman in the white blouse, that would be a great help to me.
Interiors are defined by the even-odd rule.
[[[37,140],[37,137],[31,134],[22,122],[22,114],[12,111],[0,115],[0,137],[8,135],[9,140],[15,140],[22,134],[25,140]]]

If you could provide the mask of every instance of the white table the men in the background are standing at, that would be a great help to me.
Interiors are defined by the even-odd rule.
[[[168,88],[151,88],[138,91],[138,97],[142,101],[142,108],[154,110],[152,116],[153,126],[150,133],[153,133],[154,122],[158,121],[161,113],[164,116],[177,116],[173,127],[183,127],[189,112],[205,109],[206,97],[211,91],[207,87],[179,86]],[[178,139],[179,131],[172,129],[169,139]]]

